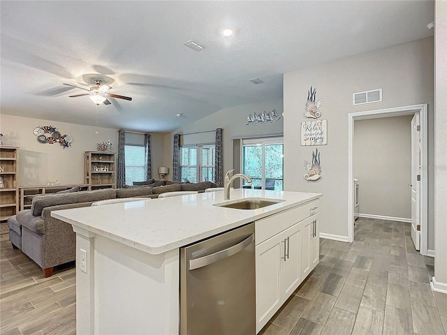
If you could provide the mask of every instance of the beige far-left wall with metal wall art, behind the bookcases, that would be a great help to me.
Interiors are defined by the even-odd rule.
[[[60,144],[42,144],[33,133],[37,126],[54,126],[61,134],[71,135],[73,144],[65,149]],[[112,152],[118,149],[118,130],[111,128],[0,114],[0,132],[5,145],[20,147],[19,186],[42,186],[47,180],[84,184],[84,151],[96,151],[97,142],[108,140],[112,142]],[[163,140],[164,134],[152,134],[154,178],[159,177],[158,168],[163,164]]]

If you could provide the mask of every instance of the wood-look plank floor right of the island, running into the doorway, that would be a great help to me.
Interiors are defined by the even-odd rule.
[[[320,239],[320,263],[260,334],[446,335],[447,295],[432,292],[434,260],[410,234],[359,218],[353,243]]]

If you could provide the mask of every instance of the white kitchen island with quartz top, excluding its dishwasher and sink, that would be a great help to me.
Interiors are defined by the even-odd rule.
[[[223,191],[217,191],[52,211],[54,218],[71,223],[76,232],[77,334],[179,334],[179,248],[251,222],[255,222],[257,291],[268,284],[262,278],[258,281],[267,265],[261,266],[262,256],[282,250],[282,241],[286,246],[290,240],[281,237],[275,248],[271,237],[292,228],[299,231],[293,236],[300,245],[292,244],[298,260],[292,271],[287,270],[298,276],[286,285],[287,294],[293,292],[313,268],[305,266],[311,258],[306,262],[300,257],[303,247],[311,248],[301,233],[308,227],[306,236],[318,237],[312,215],[318,215],[314,204],[320,197],[320,193],[235,189],[231,200],[284,201],[260,209],[218,207],[214,204],[224,200]],[[308,217],[312,224],[307,225]],[[285,260],[284,255],[284,264]],[[279,274],[277,297],[263,295],[263,290],[256,294],[256,308],[262,310],[259,317],[257,312],[258,328],[287,299],[281,293],[282,277],[286,276]]]

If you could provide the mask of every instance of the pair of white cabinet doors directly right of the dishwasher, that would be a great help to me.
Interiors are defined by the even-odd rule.
[[[256,332],[300,285],[301,225],[256,246]]]

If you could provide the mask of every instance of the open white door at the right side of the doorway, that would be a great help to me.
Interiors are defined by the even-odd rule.
[[[411,120],[411,239],[420,250],[420,116]]]

